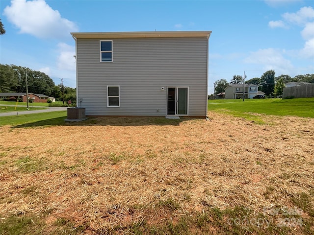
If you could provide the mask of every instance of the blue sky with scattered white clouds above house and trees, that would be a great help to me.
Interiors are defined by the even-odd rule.
[[[1,0],[0,63],[76,87],[70,32],[211,30],[209,94],[233,75],[314,73],[314,1]]]

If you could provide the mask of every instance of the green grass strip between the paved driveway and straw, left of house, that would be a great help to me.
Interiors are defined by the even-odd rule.
[[[0,118],[0,126],[23,125],[23,127],[30,127],[30,126],[63,125],[64,119],[66,119],[66,117],[67,111],[56,111],[39,114],[25,114],[19,115],[19,117],[8,116]]]

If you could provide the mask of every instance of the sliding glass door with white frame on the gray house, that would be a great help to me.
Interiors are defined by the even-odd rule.
[[[167,115],[188,115],[188,87],[167,88]]]

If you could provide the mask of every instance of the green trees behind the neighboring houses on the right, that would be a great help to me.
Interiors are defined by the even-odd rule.
[[[283,93],[285,84],[288,82],[314,83],[314,74],[296,75],[295,77],[282,74],[276,77],[275,71],[269,70],[264,72],[261,77],[254,77],[245,81],[245,84],[258,85],[259,91],[262,91],[265,93],[265,95],[281,95]],[[225,92],[225,88],[230,84],[243,84],[243,76],[234,75],[230,82],[228,82],[226,79],[220,79],[216,81],[214,83],[214,94]]]

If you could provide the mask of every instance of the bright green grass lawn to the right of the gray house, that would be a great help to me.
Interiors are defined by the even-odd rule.
[[[252,118],[254,113],[314,118],[314,98],[209,100],[208,110],[243,118]]]

